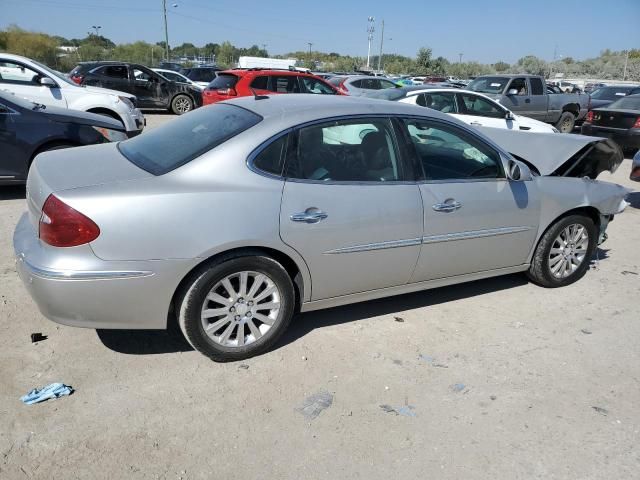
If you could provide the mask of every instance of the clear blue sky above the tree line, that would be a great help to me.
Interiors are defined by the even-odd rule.
[[[640,0],[167,0],[167,10],[171,46],[229,40],[283,54],[312,42],[313,50],[364,57],[373,16],[372,54],[382,20],[384,52],[411,57],[423,46],[482,63],[640,48]],[[162,0],[0,0],[0,29],[11,24],[66,38],[99,25],[116,43],[164,39]]]

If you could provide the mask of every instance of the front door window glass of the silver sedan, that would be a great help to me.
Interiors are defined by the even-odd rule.
[[[504,178],[498,152],[467,132],[427,120],[403,124],[427,180]]]

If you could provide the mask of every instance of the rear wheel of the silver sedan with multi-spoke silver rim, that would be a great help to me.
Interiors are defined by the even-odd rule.
[[[242,273],[246,274],[244,291]],[[258,355],[273,346],[291,322],[293,283],[282,265],[270,257],[223,258],[203,265],[190,278],[176,303],[178,324],[191,346],[211,360],[230,362]],[[266,297],[260,298],[265,292]],[[260,308],[267,305],[278,307]]]

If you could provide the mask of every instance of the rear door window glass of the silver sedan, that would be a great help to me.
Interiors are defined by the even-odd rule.
[[[402,180],[393,138],[386,119],[339,120],[301,128],[287,176],[335,182]]]

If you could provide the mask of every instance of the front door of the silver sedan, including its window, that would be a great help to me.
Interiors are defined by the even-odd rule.
[[[412,282],[523,265],[538,230],[533,181],[506,178],[500,153],[469,129],[404,119],[422,166],[424,235]]]

